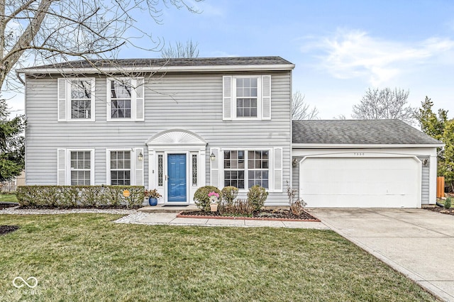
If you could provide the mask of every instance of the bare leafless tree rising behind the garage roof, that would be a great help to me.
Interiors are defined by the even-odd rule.
[[[362,120],[399,119],[414,123],[415,108],[408,105],[409,91],[368,89],[361,102],[353,106],[352,117]]]

